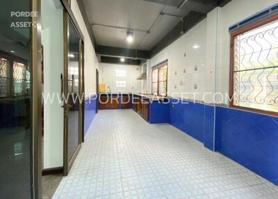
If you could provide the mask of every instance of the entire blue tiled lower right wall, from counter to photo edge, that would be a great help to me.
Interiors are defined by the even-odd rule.
[[[171,102],[171,125],[278,185],[278,118],[193,102]]]

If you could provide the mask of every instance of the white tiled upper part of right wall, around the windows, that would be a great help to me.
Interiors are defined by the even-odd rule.
[[[229,26],[277,3],[277,0],[233,0],[215,8],[207,18],[148,61],[147,88],[151,90],[151,67],[168,59],[168,93],[197,92],[196,100],[210,103],[212,95],[229,93]],[[193,49],[193,45],[200,45]],[[184,56],[186,53],[186,57]],[[195,72],[194,67],[198,66]],[[183,69],[186,73],[183,73]],[[177,74],[176,74],[177,72]],[[194,88],[197,83],[197,89]],[[177,88],[176,88],[177,86]],[[193,99],[193,95],[181,97]],[[220,97],[216,102],[221,103]],[[227,104],[227,101],[222,102]]]

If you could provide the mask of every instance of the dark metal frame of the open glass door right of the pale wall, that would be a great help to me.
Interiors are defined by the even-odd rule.
[[[64,102],[63,109],[64,109],[64,138],[63,138],[63,174],[68,175],[70,173],[70,170],[72,168],[72,165],[74,164],[74,161],[77,157],[77,154],[79,154],[79,151],[81,149],[81,143],[83,141],[83,129],[84,129],[84,109],[83,106],[85,100],[84,98],[84,88],[83,88],[83,82],[84,82],[84,75],[83,75],[83,35],[79,31],[79,28],[74,23],[74,19],[70,16],[70,13],[67,12],[67,10],[64,10],[63,13],[63,29],[64,29],[64,79],[63,79],[63,94],[68,93],[68,66],[69,66],[69,58],[68,58],[68,51],[69,51],[69,35],[70,35],[70,22],[74,26],[74,29],[76,30],[76,33],[79,34],[80,40],[79,40],[79,93],[81,94],[80,97],[82,97],[82,102],[79,104],[79,145],[72,155],[72,158],[70,161],[68,161],[68,117],[67,113],[69,112],[69,105],[67,102]],[[66,96],[67,97],[67,96]]]

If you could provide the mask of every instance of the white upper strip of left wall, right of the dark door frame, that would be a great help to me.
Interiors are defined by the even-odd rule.
[[[72,12],[84,36],[85,98],[88,98],[96,93],[96,69],[99,67],[99,62],[97,61],[95,49],[92,46],[90,35],[86,29],[77,1],[72,0],[71,2]]]

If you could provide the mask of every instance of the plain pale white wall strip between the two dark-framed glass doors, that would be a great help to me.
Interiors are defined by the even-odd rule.
[[[60,93],[63,73],[63,9],[42,0],[42,45],[44,47],[44,96]],[[44,100],[44,166],[63,166],[63,109],[58,98]]]

